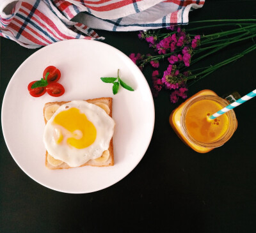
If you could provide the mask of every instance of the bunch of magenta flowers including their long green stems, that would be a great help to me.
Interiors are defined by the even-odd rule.
[[[195,83],[197,80],[203,79],[212,71],[221,66],[236,61],[244,54],[256,49],[256,45],[252,45],[240,54],[236,54],[225,61],[218,64],[210,65],[204,68],[190,70],[191,65],[197,61],[204,59],[206,56],[224,49],[232,43],[240,42],[256,38],[256,19],[246,19],[246,24],[237,24],[238,21],[243,20],[216,20],[218,24],[213,25],[214,20],[205,20],[201,22],[194,22],[197,24],[207,23],[209,25],[196,27],[195,29],[205,29],[207,27],[216,28],[221,26],[228,27],[227,31],[221,29],[218,33],[194,35],[188,34],[188,31],[195,29],[182,29],[179,26],[166,27],[166,29],[158,31],[140,31],[138,37],[140,40],[145,40],[151,50],[154,50],[154,55],[146,54],[130,54],[132,61],[141,69],[146,64],[151,64],[153,68],[159,68],[152,73],[152,94],[157,97],[159,92],[163,89],[170,91],[170,101],[176,103],[179,98],[187,98],[188,81],[189,85]],[[199,55],[199,57],[198,57]],[[195,58],[194,58],[195,56]],[[161,61],[167,61],[162,63]],[[188,70],[189,69],[189,70]],[[198,71],[200,70],[200,71]],[[196,71],[196,72],[195,72]],[[193,80],[193,82],[190,82]]]

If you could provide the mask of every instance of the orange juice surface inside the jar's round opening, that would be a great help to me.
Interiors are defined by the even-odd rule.
[[[219,139],[228,128],[228,117],[221,115],[213,120],[208,117],[223,109],[213,100],[200,100],[191,105],[186,114],[186,126],[189,135],[199,142],[213,142]]]

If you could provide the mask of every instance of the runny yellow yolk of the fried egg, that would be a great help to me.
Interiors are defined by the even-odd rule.
[[[95,126],[77,108],[60,112],[54,117],[53,123],[62,126],[71,133],[72,137],[68,137],[67,144],[77,149],[92,145],[96,139]],[[62,140],[63,136],[61,135],[56,142],[59,144]]]

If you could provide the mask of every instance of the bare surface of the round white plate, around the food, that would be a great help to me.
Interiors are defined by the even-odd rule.
[[[15,54],[13,54],[15,56]],[[30,96],[28,84],[42,77],[44,69],[60,69],[63,96]],[[112,84],[100,77],[120,77],[135,91]],[[49,101],[86,100],[112,97],[115,165],[49,170],[45,167],[44,104]],[[2,107],[2,127],[6,144],[15,162],[38,183],[65,193],[90,193],[115,184],[131,172],[147,151],[154,130],[154,101],[147,80],[129,57],[99,41],[66,40],[44,47],[14,73]]]

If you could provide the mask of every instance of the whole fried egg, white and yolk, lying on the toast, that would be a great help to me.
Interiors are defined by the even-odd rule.
[[[99,158],[109,147],[115,121],[106,112],[83,100],[60,106],[47,121],[44,144],[48,153],[70,167]]]

